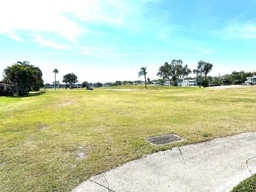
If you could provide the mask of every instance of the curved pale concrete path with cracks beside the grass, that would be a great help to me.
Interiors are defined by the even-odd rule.
[[[252,174],[256,133],[243,133],[148,155],[73,191],[230,191]]]

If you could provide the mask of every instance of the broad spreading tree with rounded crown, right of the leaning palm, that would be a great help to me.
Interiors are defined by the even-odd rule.
[[[165,62],[164,65],[159,68],[157,75],[163,79],[168,79],[173,86],[178,86],[179,81],[191,73],[187,65],[182,65],[183,62],[181,60],[174,59],[171,63]]]

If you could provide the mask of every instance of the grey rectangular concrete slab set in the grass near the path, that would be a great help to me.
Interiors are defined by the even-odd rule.
[[[176,141],[181,141],[182,138],[175,134],[166,134],[157,137],[149,137],[146,141],[153,145],[165,145]]]

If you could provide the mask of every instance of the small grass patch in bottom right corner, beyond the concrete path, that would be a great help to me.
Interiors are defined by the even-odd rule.
[[[231,192],[255,192],[256,191],[256,174],[239,183]]]

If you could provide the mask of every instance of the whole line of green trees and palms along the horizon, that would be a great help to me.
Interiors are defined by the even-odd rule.
[[[212,70],[213,64],[206,61],[198,61],[196,69],[190,70],[187,65],[183,65],[182,60],[172,60],[170,62],[165,62],[164,65],[159,67],[157,76],[159,82],[164,83],[169,81],[170,85],[178,86],[178,83],[183,79],[191,79],[188,77],[189,74],[194,73],[198,79],[198,85],[200,86],[209,86],[211,85],[230,85],[230,84],[243,84],[246,81],[246,77],[256,75],[255,72],[245,72],[245,71],[232,71],[231,74],[226,74],[218,77],[208,76]],[[54,73],[54,87],[59,83],[56,81],[56,75],[59,73],[58,69],[53,70]],[[3,73],[3,81],[13,83],[17,86],[17,93],[19,95],[26,95],[29,91],[39,91],[41,87],[44,86],[43,74],[42,71],[30,65],[29,61],[18,61],[10,67],[6,67]],[[147,89],[147,82],[151,83],[149,78],[147,78],[147,67],[141,67],[138,77],[143,76],[145,86]],[[78,82],[77,76],[74,73],[69,73],[63,76],[63,83],[66,83],[67,86],[72,87],[75,83]],[[141,83],[141,81],[116,81],[114,83],[105,83],[111,86],[123,85],[123,84],[132,84],[132,83]],[[83,87],[90,85],[84,81],[82,83]],[[98,82],[98,86],[102,86],[102,83]]]

